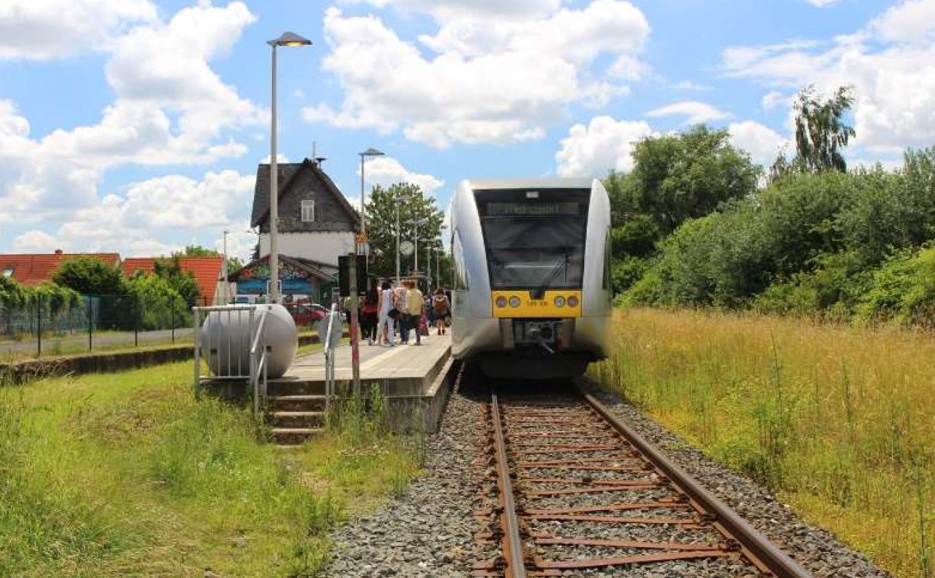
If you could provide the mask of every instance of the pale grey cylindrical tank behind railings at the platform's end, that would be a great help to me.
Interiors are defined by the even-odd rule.
[[[281,305],[253,305],[253,325],[263,325],[266,352],[266,376],[282,377],[295,360],[298,332],[295,320]],[[210,311],[201,326],[202,354],[211,372],[218,377],[250,375],[251,311]]]

